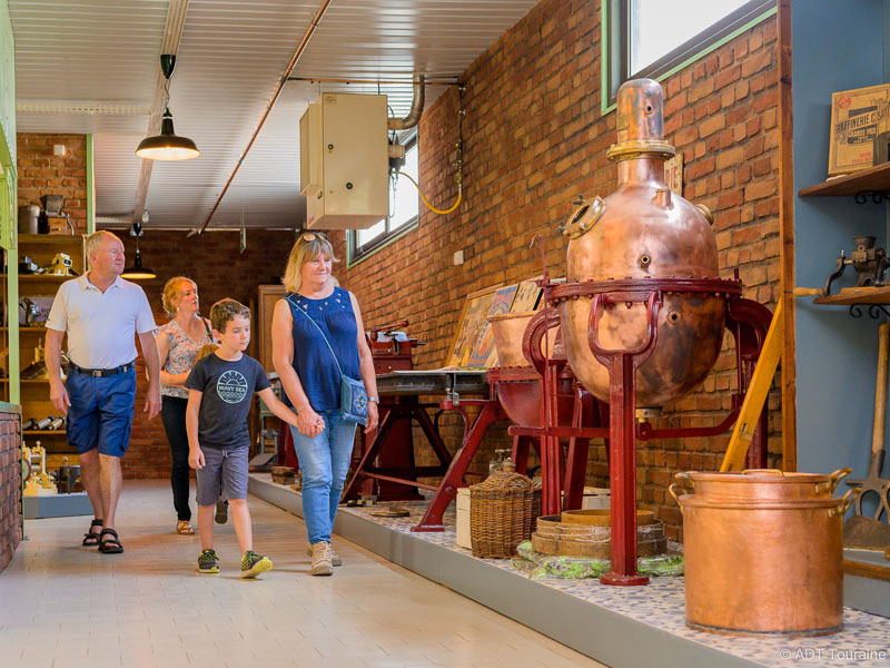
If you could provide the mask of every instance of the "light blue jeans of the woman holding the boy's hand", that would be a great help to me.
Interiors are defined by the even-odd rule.
[[[356,428],[355,422],[340,418],[339,411],[322,411],[319,415],[325,421],[325,431],[317,436],[310,438],[290,428],[303,471],[303,519],[310,543],[330,542]]]

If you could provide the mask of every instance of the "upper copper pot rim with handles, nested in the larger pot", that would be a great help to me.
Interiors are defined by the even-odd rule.
[[[749,469],[740,473],[686,471],[674,478],[684,494],[699,499],[751,499],[781,501],[825,499],[838,489],[852,469],[838,469],[831,475],[785,473],[778,469]]]

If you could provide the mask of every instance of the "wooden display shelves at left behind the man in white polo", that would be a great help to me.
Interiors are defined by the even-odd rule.
[[[38,267],[49,267],[57,253],[65,253],[71,258],[71,268],[78,275],[82,275],[86,269],[86,254],[83,248],[82,235],[62,234],[20,234],[18,243],[18,262],[23,257],[30,257]],[[72,278],[71,276],[53,276],[48,274],[20,274],[19,298],[22,297],[55,297],[59,286]],[[8,317],[18,318],[18,304],[11,304],[7,310]],[[9,323],[4,323],[8,327]],[[4,327],[4,328],[7,328]],[[34,350],[40,344],[46,343],[47,330],[43,326],[19,325],[19,360],[20,371],[27,369],[34,361]],[[62,350],[66,350],[67,341],[62,341]],[[2,381],[3,394],[9,396],[9,380]],[[48,415],[58,416],[58,411],[49,400],[49,380],[42,379],[21,379],[21,415],[22,423],[30,418],[41,420]],[[70,464],[77,463],[77,454],[73,448],[68,444],[65,429],[48,430],[24,430],[22,439],[28,444],[37,441],[47,449],[47,468],[57,469],[61,465],[65,456],[68,456]]]

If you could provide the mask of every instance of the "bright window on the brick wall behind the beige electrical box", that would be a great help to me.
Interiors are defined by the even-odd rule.
[[[402,171],[417,180],[417,136],[405,145],[405,166]],[[407,178],[398,178],[389,190],[389,216],[367,229],[350,229],[349,263],[367,256],[390,239],[417,225],[419,208],[417,188]]]

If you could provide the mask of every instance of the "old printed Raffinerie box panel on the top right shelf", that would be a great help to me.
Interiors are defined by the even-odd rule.
[[[871,167],[874,137],[888,130],[890,85],[832,92],[828,175]]]

